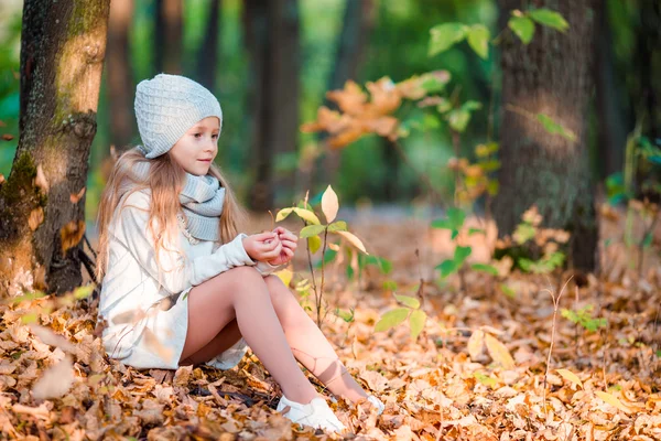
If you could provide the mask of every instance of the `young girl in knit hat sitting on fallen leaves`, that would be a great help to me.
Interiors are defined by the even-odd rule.
[[[141,82],[142,146],[123,153],[99,208],[99,319],[111,358],[136,368],[236,366],[246,345],[280,384],[278,411],[329,431],[345,427],[296,364],[335,395],[369,396],[291,291],[270,273],[288,263],[296,236],[284,228],[238,233],[241,209],[214,158],[223,111],[192,79]]]

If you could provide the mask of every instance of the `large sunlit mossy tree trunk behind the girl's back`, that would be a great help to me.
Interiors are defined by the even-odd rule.
[[[20,138],[0,189],[2,297],[82,282],[85,197],[77,195],[96,133],[109,3],[24,2]]]

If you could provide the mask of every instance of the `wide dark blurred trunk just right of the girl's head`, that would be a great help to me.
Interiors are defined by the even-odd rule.
[[[243,24],[250,54],[252,160],[250,206],[273,207],[275,190],[292,189],[277,176],[275,154],[295,152],[299,140],[300,24],[296,0],[246,0]]]

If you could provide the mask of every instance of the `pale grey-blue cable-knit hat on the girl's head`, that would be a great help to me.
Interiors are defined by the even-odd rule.
[[[220,103],[206,87],[180,75],[159,74],[136,88],[136,119],[145,158],[167,153],[199,120],[218,117]]]

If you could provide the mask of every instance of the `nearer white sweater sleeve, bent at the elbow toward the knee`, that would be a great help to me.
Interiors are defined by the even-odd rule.
[[[187,259],[178,247],[164,245],[160,250],[159,262],[155,259],[154,239],[148,227],[150,196],[141,192],[132,193],[123,206],[120,204],[119,226],[113,235],[121,241],[142,268],[169,292],[175,294],[192,286],[199,284],[228,269],[256,262],[243,248],[245,234],[232,241],[218,247],[213,254]],[[177,236],[178,237],[178,236]]]

